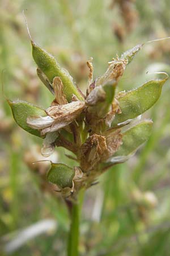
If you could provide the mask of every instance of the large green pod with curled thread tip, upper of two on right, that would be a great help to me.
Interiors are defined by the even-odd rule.
[[[120,93],[117,99],[121,114],[115,115],[112,127],[116,126],[117,123],[133,119],[150,109],[158,101],[165,81],[167,81],[167,77],[165,79],[150,80],[135,90]]]

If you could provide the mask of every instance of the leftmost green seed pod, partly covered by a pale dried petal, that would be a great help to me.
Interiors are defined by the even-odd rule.
[[[27,117],[31,117],[31,116],[44,117],[46,115],[45,110],[39,108],[38,106],[29,104],[26,101],[20,101],[20,100],[17,100],[17,101],[8,100],[8,104],[11,107],[15,122],[20,127],[22,127],[22,129],[24,129],[25,131],[28,131],[28,133],[36,135],[37,137],[41,137],[40,131],[34,130],[27,125]]]

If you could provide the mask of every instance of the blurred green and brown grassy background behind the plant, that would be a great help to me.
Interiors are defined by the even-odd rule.
[[[56,56],[85,91],[90,57],[96,77],[116,54],[170,35],[170,1],[1,0],[0,6],[0,255],[65,256],[67,209],[45,181],[48,164],[32,164],[44,159],[42,141],[15,124],[4,97],[44,108],[52,101],[36,76],[22,10],[27,9],[33,40]],[[118,90],[140,86],[154,72],[170,73],[169,57],[170,39],[146,44]],[[154,120],[149,141],[86,192],[80,255],[170,255],[169,95],[168,80],[160,100],[145,114]],[[50,159],[73,165],[66,153],[57,148]]]

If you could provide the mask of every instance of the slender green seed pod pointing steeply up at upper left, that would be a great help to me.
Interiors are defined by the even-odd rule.
[[[31,40],[31,43],[33,59],[41,71],[48,77],[51,84],[53,83],[54,77],[60,77],[63,83],[63,92],[66,95],[67,101],[71,101],[73,94],[75,94],[80,101],[84,101],[83,96],[74,85],[73,77],[70,76],[69,72],[60,67],[56,59],[40,46],[37,46],[35,42]]]

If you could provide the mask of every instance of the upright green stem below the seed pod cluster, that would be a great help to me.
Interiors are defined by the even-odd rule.
[[[68,256],[78,256],[79,243],[79,204],[73,203],[71,205],[71,224],[69,232],[69,240],[67,247]]]

